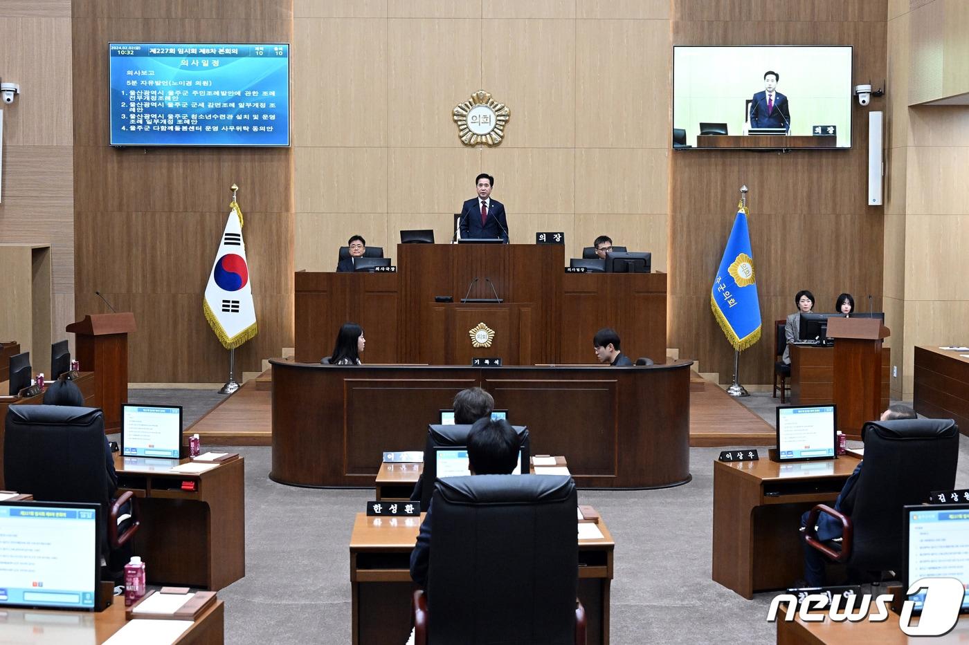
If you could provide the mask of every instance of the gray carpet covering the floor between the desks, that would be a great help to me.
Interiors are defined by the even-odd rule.
[[[151,391],[139,390],[140,400],[186,407],[205,400],[192,390],[146,398]],[[772,422],[777,400],[770,403],[767,394],[749,402]],[[684,486],[579,493],[579,503],[599,509],[616,540],[612,643],[775,641],[765,621],[773,594],[745,600],[710,579],[713,460],[721,449],[691,448],[693,481]],[[283,486],[268,478],[270,448],[232,450],[246,460],[246,576],[219,592],[226,642],[349,643],[352,518],[373,492]],[[962,437],[959,452],[956,485],[969,487],[969,438]]]

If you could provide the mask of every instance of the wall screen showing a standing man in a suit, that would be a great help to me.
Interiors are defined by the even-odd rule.
[[[828,149],[833,135],[833,147],[850,148],[853,100],[851,46],[672,49],[677,149],[697,147],[701,124],[721,135],[823,137],[814,147]]]

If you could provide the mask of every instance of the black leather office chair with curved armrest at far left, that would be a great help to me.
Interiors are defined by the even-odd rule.
[[[138,531],[138,498],[131,491],[112,500],[106,469],[105,416],[97,408],[11,406],[4,438],[6,487],[29,493],[40,502],[100,504],[108,526],[101,545],[109,571],[117,575],[124,562],[117,553]],[[130,503],[130,518],[122,507]]]

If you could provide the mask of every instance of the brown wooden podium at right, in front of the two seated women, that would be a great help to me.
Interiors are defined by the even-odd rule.
[[[849,439],[860,439],[865,421],[882,414],[882,339],[890,333],[878,319],[828,319],[838,429]]]

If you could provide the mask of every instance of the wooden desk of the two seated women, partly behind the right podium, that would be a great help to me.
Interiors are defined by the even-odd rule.
[[[889,407],[891,349],[882,348],[882,410]],[[834,349],[816,345],[791,346],[791,404],[796,406],[834,402]],[[861,428],[842,426],[848,439],[860,440]],[[875,420],[875,419],[871,419]]]

